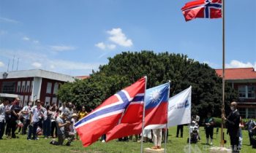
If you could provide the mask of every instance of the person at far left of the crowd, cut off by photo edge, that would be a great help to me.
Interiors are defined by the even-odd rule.
[[[2,136],[4,135],[4,126],[5,126],[5,106],[7,106],[9,100],[7,98],[4,99],[3,103],[0,105],[0,140],[3,139]]]

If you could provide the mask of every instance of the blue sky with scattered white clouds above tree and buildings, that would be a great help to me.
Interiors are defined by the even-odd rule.
[[[189,0],[0,1],[0,71],[88,75],[123,51],[183,53],[222,68],[222,20],[185,22]],[[226,64],[256,68],[256,1],[226,1]]]

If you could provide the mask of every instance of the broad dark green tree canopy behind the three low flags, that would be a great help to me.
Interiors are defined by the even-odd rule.
[[[72,101],[94,109],[110,95],[147,76],[147,88],[171,82],[170,96],[192,86],[192,113],[206,116],[212,111],[220,114],[222,79],[206,63],[189,59],[187,55],[153,51],[122,52],[108,58],[108,64],[89,79],[76,80],[61,86],[58,96],[62,101]],[[225,88],[226,108],[237,99],[237,93]]]

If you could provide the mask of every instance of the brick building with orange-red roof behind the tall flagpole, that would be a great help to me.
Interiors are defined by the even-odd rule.
[[[222,77],[222,69],[216,69]],[[225,81],[238,91],[238,109],[243,118],[256,117],[256,71],[254,68],[226,68]]]

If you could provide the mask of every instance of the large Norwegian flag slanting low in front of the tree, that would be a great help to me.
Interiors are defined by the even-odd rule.
[[[134,84],[112,95],[94,111],[75,123],[83,146],[89,146],[98,140],[100,136],[108,133],[118,124],[124,111],[133,103],[141,103],[144,100],[146,78],[142,78]]]

